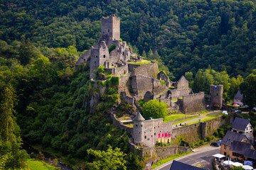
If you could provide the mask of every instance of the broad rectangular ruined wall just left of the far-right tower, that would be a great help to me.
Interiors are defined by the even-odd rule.
[[[206,103],[204,98],[204,92],[183,96],[183,103],[180,108],[183,113],[205,111]]]

